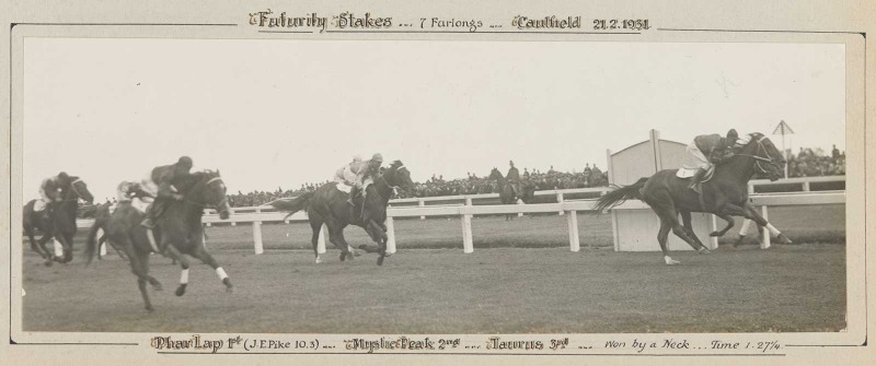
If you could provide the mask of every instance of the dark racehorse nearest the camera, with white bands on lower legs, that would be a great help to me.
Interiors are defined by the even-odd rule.
[[[188,285],[189,261],[182,255],[195,257],[212,267],[227,291],[231,292],[232,285],[228,274],[204,247],[201,226],[205,208],[215,208],[219,211],[219,217],[228,219],[230,208],[226,197],[227,188],[218,172],[193,173],[186,187],[180,190],[183,198],[168,205],[161,217],[155,221],[154,228],[154,237],[160,248],[158,251],[166,251],[171,258],[178,259],[182,267],[176,296],[183,296]],[[143,216],[145,214],[130,203],[119,204],[104,225],[104,232],[107,239],[122,247],[130,259],[131,271],[137,276],[137,285],[146,303],[146,309],[152,311],[154,308],[149,300],[146,283],[149,282],[155,290],[161,290],[161,283],[149,275],[149,253],[155,250],[149,243],[147,229],[140,226]],[[85,240],[85,256],[89,263],[94,256],[97,228],[96,225],[92,227]]]

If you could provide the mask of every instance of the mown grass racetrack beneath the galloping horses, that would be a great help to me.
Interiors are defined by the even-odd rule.
[[[794,245],[681,251],[676,267],[659,252],[614,252],[608,216],[587,214],[579,217],[580,252],[568,250],[564,216],[479,217],[470,255],[461,249],[459,220],[396,221],[399,251],[383,267],[367,253],[341,262],[331,244],[324,263],[313,263],[306,224],[263,225],[261,256],[252,252],[251,226],[210,227],[208,248],[235,291],[226,293],[209,267],[193,261],[188,291],[176,297],[178,267],[152,256],[151,274],[164,285],[150,290],[153,314],[112,249],[84,267],[79,235],[68,264],[46,268],[25,249],[23,324],[231,333],[839,331],[846,304],[843,209],[771,209]],[[358,227],[346,233],[354,245],[367,240]]]

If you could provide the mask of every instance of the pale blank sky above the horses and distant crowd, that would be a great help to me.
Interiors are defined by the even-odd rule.
[[[648,139],[763,132],[844,150],[843,45],[25,38],[25,200],[65,170],[97,201],[188,155],[230,192],[328,180],[354,155],[415,181],[606,167]],[[781,146],[781,137],[772,137]]]

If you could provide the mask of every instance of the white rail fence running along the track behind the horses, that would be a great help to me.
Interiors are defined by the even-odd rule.
[[[780,205],[807,205],[807,204],[844,204],[844,191],[810,191],[810,184],[816,182],[835,182],[845,181],[845,177],[808,177],[808,178],[791,178],[777,181],[769,180],[752,180],[749,184],[749,191],[754,191],[754,187],[771,186],[771,185],[800,185],[803,191],[800,192],[783,192],[783,193],[752,193],[750,194],[751,202],[761,208],[761,213],[764,217],[769,214],[769,206]],[[500,215],[500,214],[518,214],[526,213],[558,213],[561,215],[567,214],[568,224],[568,238],[569,250],[580,250],[579,243],[579,227],[578,227],[578,211],[592,211],[596,199],[584,200],[566,200],[566,194],[575,193],[599,193],[609,190],[607,187],[599,188],[581,188],[581,189],[565,189],[565,190],[546,190],[537,191],[537,197],[553,196],[556,198],[556,203],[534,203],[534,204],[473,204],[474,201],[482,200],[496,200],[497,193],[487,194],[468,194],[468,196],[451,196],[451,197],[426,197],[426,198],[406,198],[390,201],[390,208],[387,211],[387,235],[388,252],[395,252],[395,217],[419,217],[425,220],[428,216],[458,216],[462,223],[462,248],[466,253],[474,251],[474,244],[472,239],[472,217],[474,215]],[[429,202],[430,204],[426,204]],[[441,203],[441,204],[434,204]],[[615,206],[613,210],[642,210],[647,209],[647,205],[639,201],[627,201],[621,205]],[[277,212],[273,206],[253,206],[253,208],[232,208],[233,213],[228,220],[221,220],[211,211],[204,215],[204,223],[207,226],[212,224],[230,224],[232,226],[238,223],[249,223],[253,225],[253,246],[255,253],[261,255],[264,252],[262,240],[262,224],[272,222],[302,222],[307,221],[306,212],[298,212],[289,217],[285,217],[286,213]],[[92,220],[80,220],[79,226],[90,226]],[[320,235],[318,251],[325,252],[325,226]],[[770,234],[765,231],[763,233],[762,248],[770,246]],[[56,244],[56,251],[58,245]],[[102,247],[102,255],[105,253],[106,248]]]

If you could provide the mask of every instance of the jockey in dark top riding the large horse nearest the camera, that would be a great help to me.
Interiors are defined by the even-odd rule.
[[[149,197],[154,198],[154,202],[146,210],[146,219],[140,224],[147,228],[154,226],[154,221],[164,212],[171,200],[182,200],[180,193],[182,187],[191,177],[192,158],[182,156],[171,165],[163,165],[153,168],[141,182],[142,190]]]

